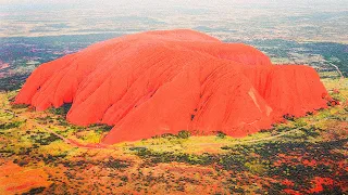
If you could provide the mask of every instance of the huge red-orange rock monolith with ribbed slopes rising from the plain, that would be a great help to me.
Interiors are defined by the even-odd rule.
[[[272,65],[257,49],[192,30],[149,31],[94,44],[39,66],[15,103],[73,102],[67,120],[114,126],[103,144],[189,130],[245,136],[285,114],[326,107],[316,72]]]

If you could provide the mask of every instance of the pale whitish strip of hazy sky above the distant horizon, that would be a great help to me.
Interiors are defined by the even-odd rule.
[[[0,12],[25,9],[69,9],[69,8],[112,8],[134,9],[179,6],[185,9],[219,8],[231,9],[236,5],[260,8],[310,8],[318,10],[348,11],[348,0],[0,0]]]

